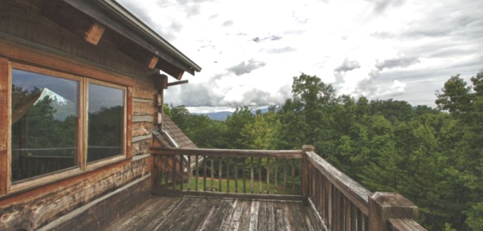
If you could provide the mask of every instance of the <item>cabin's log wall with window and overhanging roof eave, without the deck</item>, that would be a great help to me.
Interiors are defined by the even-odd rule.
[[[113,0],[0,9],[0,230],[100,228],[150,192],[155,76],[201,68]]]

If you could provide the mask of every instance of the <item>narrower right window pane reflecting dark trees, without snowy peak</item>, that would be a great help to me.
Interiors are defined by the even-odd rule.
[[[87,162],[123,153],[124,91],[89,84]]]

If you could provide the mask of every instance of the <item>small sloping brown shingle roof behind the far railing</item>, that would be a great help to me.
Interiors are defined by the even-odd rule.
[[[155,137],[164,147],[197,148],[196,144],[184,134],[181,129],[166,115],[164,115],[163,129],[166,133],[155,133]],[[170,139],[171,137],[171,139]],[[174,142],[174,143],[173,143]]]

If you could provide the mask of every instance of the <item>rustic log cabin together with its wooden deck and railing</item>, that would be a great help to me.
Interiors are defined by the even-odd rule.
[[[0,230],[425,230],[312,146],[197,148],[162,105],[200,70],[114,0],[0,0]]]

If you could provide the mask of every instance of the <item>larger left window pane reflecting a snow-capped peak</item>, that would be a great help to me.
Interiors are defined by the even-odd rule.
[[[79,82],[13,69],[12,182],[78,166]]]

